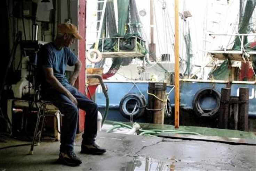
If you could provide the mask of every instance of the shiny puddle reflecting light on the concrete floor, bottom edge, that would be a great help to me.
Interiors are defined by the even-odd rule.
[[[121,171],[174,171],[176,159],[155,160],[150,157],[138,157],[126,163]]]

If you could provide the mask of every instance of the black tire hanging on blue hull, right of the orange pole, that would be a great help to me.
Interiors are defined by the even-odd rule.
[[[203,97],[211,96],[216,99],[216,106],[213,110],[210,111],[204,111],[201,106],[200,106],[200,100]],[[219,111],[219,106],[221,103],[221,93],[213,88],[202,88],[200,89],[193,97],[192,101],[192,107],[197,114],[197,116],[202,117],[202,118],[215,118],[218,114]]]

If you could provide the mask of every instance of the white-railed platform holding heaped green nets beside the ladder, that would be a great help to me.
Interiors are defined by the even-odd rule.
[[[117,40],[117,50],[113,52],[104,52],[104,41],[106,39],[116,39]],[[145,53],[143,48],[146,49],[145,41],[138,36],[132,36],[131,39],[135,43],[135,47],[132,50],[120,50],[120,41],[125,40],[124,36],[119,37],[104,37],[100,38],[102,40],[101,47],[99,48],[103,58],[113,58],[113,57],[144,57]],[[138,43],[138,44],[137,44]],[[140,46],[140,47],[138,47]]]

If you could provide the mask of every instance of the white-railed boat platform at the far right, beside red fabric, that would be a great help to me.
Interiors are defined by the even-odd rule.
[[[256,36],[255,34],[209,34],[210,36],[239,36],[241,46],[239,50],[227,49],[208,51],[211,57],[219,60],[253,61],[256,51],[248,50],[243,44],[245,36]]]

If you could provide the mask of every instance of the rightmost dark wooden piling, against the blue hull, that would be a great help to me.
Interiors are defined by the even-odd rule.
[[[249,89],[239,88],[238,130],[248,131]]]

